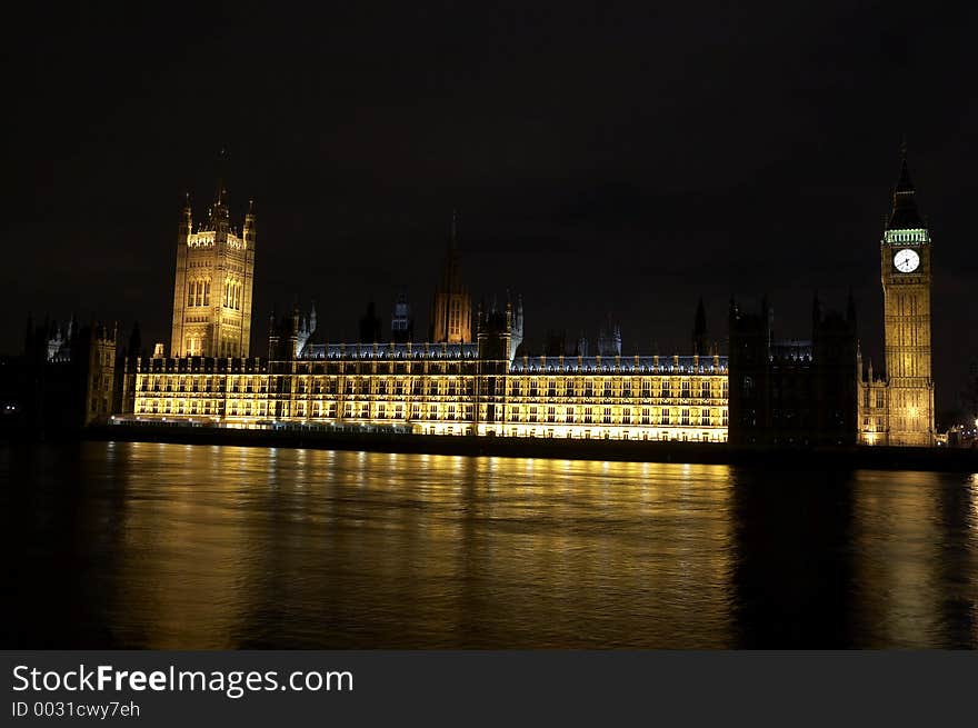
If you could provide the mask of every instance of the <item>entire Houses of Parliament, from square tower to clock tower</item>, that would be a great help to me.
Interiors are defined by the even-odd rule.
[[[178,226],[170,356],[126,362],[124,419],[241,428],[312,427],[742,443],[931,445],[930,238],[906,159],[881,242],[886,376],[862,371],[855,311],[816,311],[814,339],[784,347],[768,313],[731,301],[730,355],[697,311],[690,349],[622,355],[613,327],[595,351],[562,342],[525,351],[523,307],[472,307],[455,220],[426,341],[398,300],[392,341],[370,311],[360,340],[331,342],[315,308],[269,320],[251,356],[255,213],[230,225],[221,187],[204,221]],[[786,425],[789,423],[790,426]]]

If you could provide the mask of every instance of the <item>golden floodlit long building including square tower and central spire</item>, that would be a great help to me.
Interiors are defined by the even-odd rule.
[[[249,210],[238,237],[226,199],[221,188],[196,231],[183,210],[171,356],[158,350],[130,362],[124,416],[241,428],[727,440],[726,357],[705,348],[621,356],[620,335],[617,349],[597,356],[518,356],[519,300],[480,310],[472,327],[455,220],[430,342],[315,343],[315,310],[300,317],[297,309],[272,318],[269,357],[249,357],[255,217]]]

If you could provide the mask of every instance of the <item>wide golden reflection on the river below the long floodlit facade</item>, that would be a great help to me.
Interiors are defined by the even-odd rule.
[[[119,447],[128,644],[731,641],[726,467]]]

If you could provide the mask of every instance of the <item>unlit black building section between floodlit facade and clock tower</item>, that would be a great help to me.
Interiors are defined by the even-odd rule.
[[[845,316],[816,297],[809,340],[776,340],[767,298],[759,315],[730,302],[730,442],[855,445],[858,376],[851,297]]]

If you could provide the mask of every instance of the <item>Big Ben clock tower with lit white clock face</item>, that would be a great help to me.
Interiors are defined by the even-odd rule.
[[[930,251],[930,232],[917,210],[905,147],[894,209],[880,241],[889,425],[886,441],[891,446],[934,445]]]

